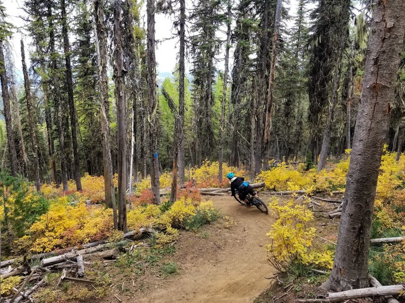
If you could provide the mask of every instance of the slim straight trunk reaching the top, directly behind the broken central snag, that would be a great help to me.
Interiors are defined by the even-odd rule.
[[[186,1],[180,0],[180,50],[179,50],[179,182],[184,184],[185,152],[184,152],[184,78],[185,78],[185,24],[186,24]]]

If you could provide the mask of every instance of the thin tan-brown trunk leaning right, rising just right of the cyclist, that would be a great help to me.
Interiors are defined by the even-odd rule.
[[[274,22],[274,36],[271,49],[271,64],[269,86],[267,90],[267,105],[266,105],[266,123],[264,126],[264,160],[263,168],[267,169],[270,160],[270,125],[271,125],[271,110],[273,107],[273,90],[274,90],[274,76],[275,76],[275,62],[277,61],[277,44],[278,44],[278,30],[280,27],[282,0],[277,0],[277,7],[275,11]]]

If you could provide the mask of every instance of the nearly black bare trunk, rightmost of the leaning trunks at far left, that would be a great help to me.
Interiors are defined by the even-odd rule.
[[[67,96],[70,112],[70,129],[72,132],[72,143],[73,143],[73,175],[74,181],[76,183],[76,190],[82,190],[82,181],[80,181],[79,151],[77,147],[77,131],[76,131],[77,116],[73,100],[72,66],[70,64],[70,49],[69,49],[70,46],[69,46],[69,36],[67,32],[65,0],[61,1],[61,10],[62,10],[63,48],[65,52],[65,64],[66,64]]]

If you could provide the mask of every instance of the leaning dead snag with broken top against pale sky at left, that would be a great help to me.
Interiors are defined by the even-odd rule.
[[[35,125],[35,114],[32,108],[32,95],[31,87],[28,79],[28,70],[27,65],[25,64],[25,52],[24,52],[24,43],[21,39],[21,62],[22,62],[22,71],[24,74],[24,87],[25,87],[25,99],[27,102],[27,114],[28,114],[28,123],[30,128],[31,135],[31,144],[32,144],[32,154],[34,162],[34,178],[35,178],[35,187],[37,191],[41,190],[41,178],[39,177],[39,160],[38,160],[38,141],[36,138],[36,125]]]

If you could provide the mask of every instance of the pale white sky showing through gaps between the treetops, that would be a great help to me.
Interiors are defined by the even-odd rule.
[[[22,74],[21,72],[21,54],[20,54],[20,39],[21,39],[21,33],[19,31],[22,31],[25,33],[24,27],[26,26],[26,23],[19,18],[19,16],[25,16],[25,12],[21,9],[23,6],[24,0],[6,0],[4,1],[4,6],[6,7],[6,14],[9,15],[8,21],[12,23],[17,29],[14,30],[14,34],[12,39],[10,40],[11,44],[13,45],[14,48],[14,59],[16,62],[16,68],[17,68],[17,78],[19,75]],[[290,7],[290,15],[295,15],[296,10],[297,10],[297,4],[298,0],[291,0],[291,4],[288,3],[288,1],[284,1],[284,6]],[[191,1],[186,0],[186,8],[189,9],[191,8]],[[145,7],[142,10],[142,15],[144,15],[146,9]],[[146,16],[141,17],[142,22],[145,24],[146,27]],[[163,14],[157,14],[155,16],[155,37],[156,40],[164,40],[165,38],[169,38],[172,36],[172,27],[173,27],[173,20],[171,20],[170,17],[167,15]],[[187,34],[187,32],[186,32]],[[222,39],[225,40],[226,36],[224,33],[219,33],[218,34]],[[23,34],[23,39],[25,43],[25,48],[26,48],[26,58],[27,60],[29,59],[28,56],[28,51],[27,48],[30,48],[29,43],[31,42],[31,39]],[[177,55],[178,55],[178,39],[171,39],[171,40],[165,40],[160,43],[156,43],[156,62],[157,62],[157,73],[170,73],[174,70],[176,66],[176,60],[177,60]],[[220,70],[223,70],[224,68],[224,51],[222,50],[221,53],[219,54],[218,58],[220,59],[219,62],[217,63],[217,68]],[[229,70],[232,69],[233,65],[233,51],[231,49],[231,56],[229,60]],[[188,58],[189,59],[189,58]],[[186,70],[190,69],[190,64],[189,60],[186,60]]]

